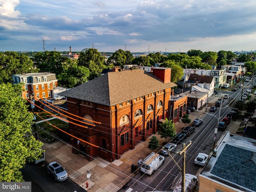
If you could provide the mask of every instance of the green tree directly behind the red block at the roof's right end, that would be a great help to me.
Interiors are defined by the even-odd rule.
[[[167,60],[164,63],[160,64],[160,67],[168,67],[172,68],[171,70],[171,82],[178,82],[181,80],[183,76],[183,68],[179,65],[176,65],[174,61],[172,60]]]

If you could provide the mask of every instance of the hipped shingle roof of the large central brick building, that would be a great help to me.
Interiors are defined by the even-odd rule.
[[[174,86],[176,84],[163,83],[152,73],[144,70],[122,70],[108,72],[59,95],[112,106]]]

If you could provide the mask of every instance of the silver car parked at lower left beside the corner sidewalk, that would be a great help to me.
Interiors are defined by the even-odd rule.
[[[58,162],[54,161],[48,164],[47,173],[54,177],[55,181],[64,181],[68,178],[68,173]]]

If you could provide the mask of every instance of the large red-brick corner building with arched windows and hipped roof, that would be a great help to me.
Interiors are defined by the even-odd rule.
[[[95,121],[95,126],[88,128],[69,124],[72,135],[99,146],[71,138],[73,152],[89,160],[100,156],[112,162],[155,134],[159,120],[168,118],[170,96],[176,86],[170,77],[170,68],[119,70],[62,92],[68,112]]]

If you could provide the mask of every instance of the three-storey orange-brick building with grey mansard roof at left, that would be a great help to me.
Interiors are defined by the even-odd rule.
[[[12,75],[12,83],[24,83],[22,98],[36,96],[37,98],[53,97],[52,90],[58,86],[58,80],[54,73],[27,73]]]

